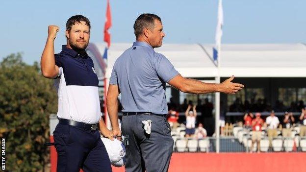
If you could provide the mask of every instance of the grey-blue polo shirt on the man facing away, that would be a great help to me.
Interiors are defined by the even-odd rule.
[[[109,84],[119,86],[123,112],[167,114],[166,83],[178,74],[149,44],[134,42],[116,60]]]

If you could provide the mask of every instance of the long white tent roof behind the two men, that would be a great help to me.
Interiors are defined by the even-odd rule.
[[[105,44],[94,44],[104,53]],[[113,43],[109,49],[110,76],[115,60],[132,43]],[[218,68],[212,60],[213,45],[163,44],[155,51],[165,55],[185,77],[215,77]],[[228,77],[306,77],[305,44],[223,44],[220,76]]]

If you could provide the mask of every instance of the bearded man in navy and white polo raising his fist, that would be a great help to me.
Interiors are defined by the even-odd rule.
[[[81,15],[66,24],[67,45],[54,54],[59,27],[48,27],[48,39],[41,57],[41,71],[54,79],[58,94],[54,146],[57,172],[111,172],[108,154],[100,138],[113,140],[101,118],[98,77],[85,49],[89,43],[90,22]],[[100,129],[100,132],[98,131]]]

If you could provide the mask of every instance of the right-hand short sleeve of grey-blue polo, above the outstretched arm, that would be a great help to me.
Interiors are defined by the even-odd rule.
[[[158,76],[165,82],[169,82],[179,74],[171,62],[162,54],[159,54],[155,61],[155,69]]]

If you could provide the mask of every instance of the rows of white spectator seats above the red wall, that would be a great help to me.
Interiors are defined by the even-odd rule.
[[[291,137],[282,137],[281,132],[278,131],[279,136],[273,139],[271,149],[269,149],[267,132],[263,130],[260,141],[260,152],[305,152],[306,137],[299,136],[299,125],[294,125]],[[220,152],[250,152],[252,131],[242,126],[234,125],[232,134],[220,138]],[[215,152],[214,137],[206,137],[203,139],[185,138],[184,124],[172,130],[171,135],[175,141],[173,148],[175,152]],[[256,151],[256,143],[253,151]]]

